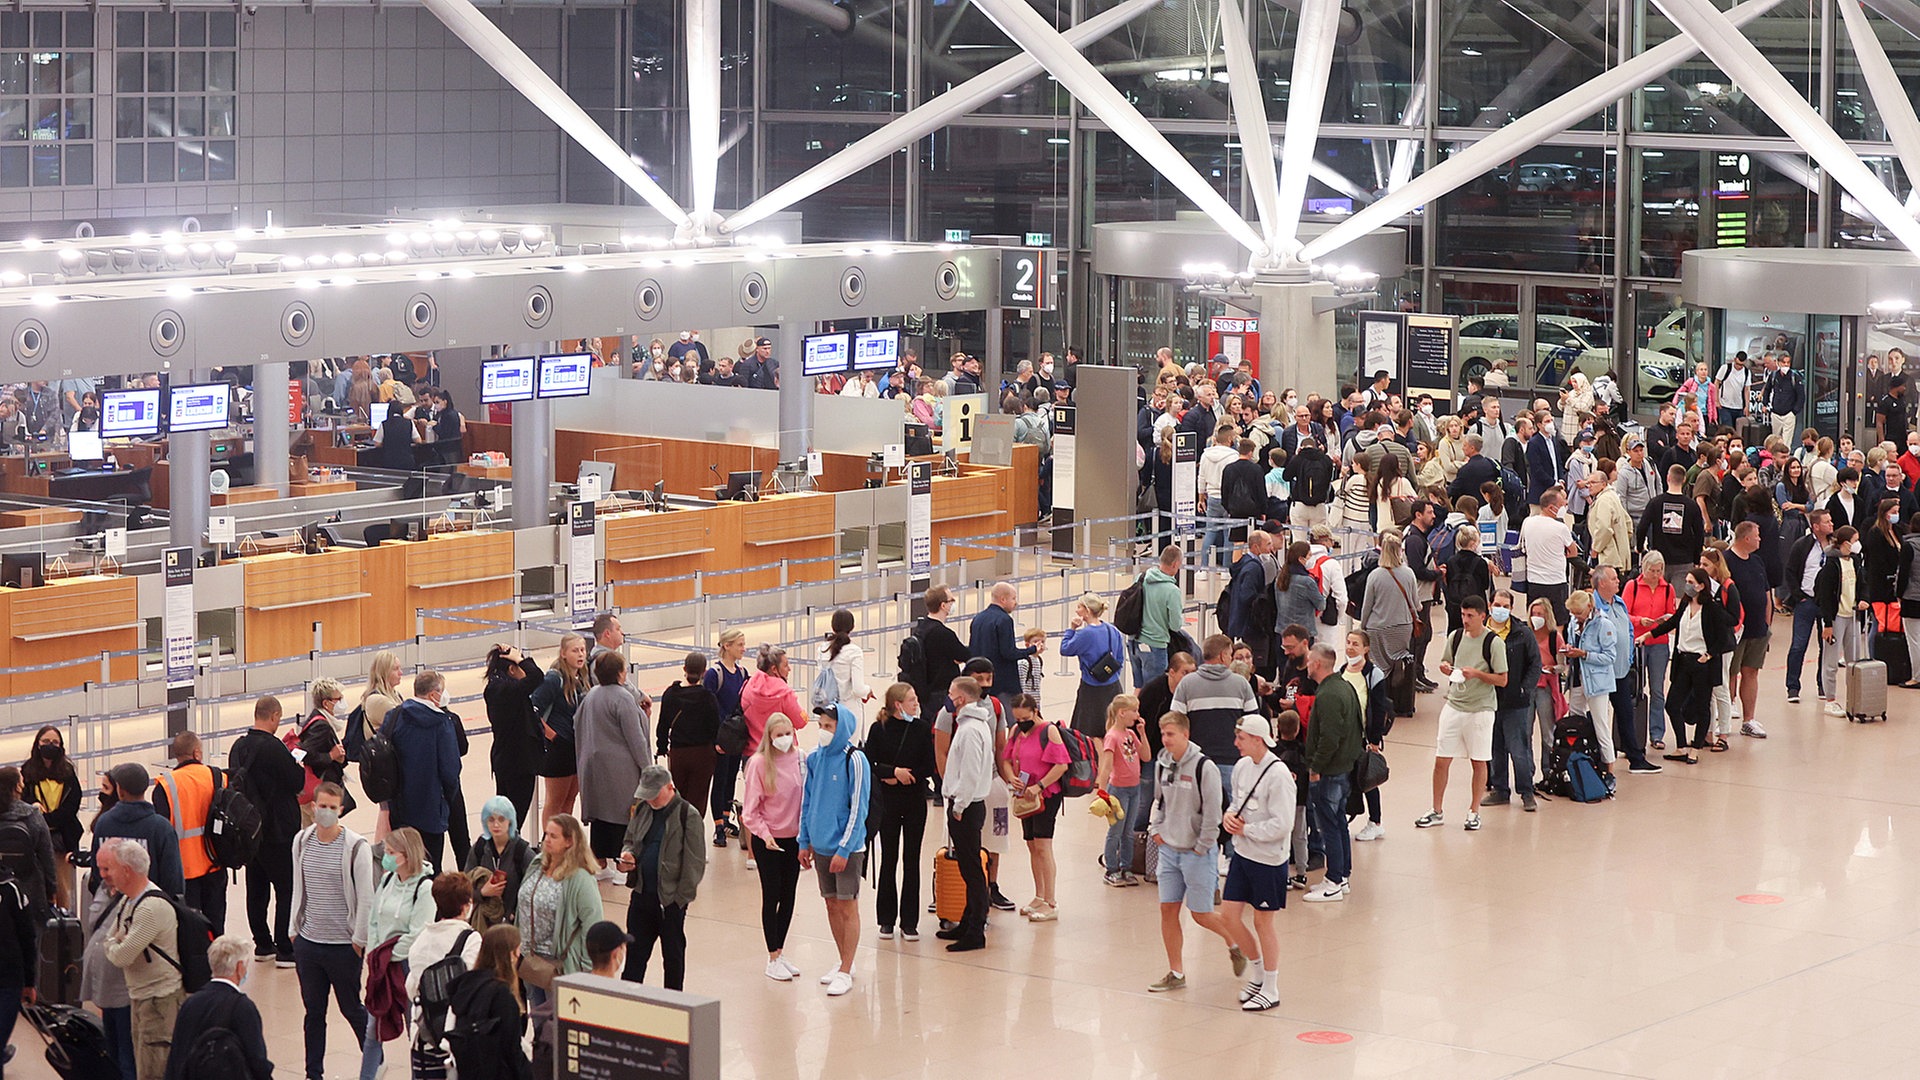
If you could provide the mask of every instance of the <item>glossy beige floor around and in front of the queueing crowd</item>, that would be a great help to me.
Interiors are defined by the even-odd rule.
[[[789,944],[808,976],[774,984],[755,876],[737,849],[714,851],[689,920],[689,990],[724,1001],[728,1078],[1910,1078],[1920,851],[1905,836],[1920,830],[1920,694],[1895,690],[1889,724],[1847,724],[1816,701],[1786,705],[1780,663],[1776,651],[1766,742],[1736,738],[1661,776],[1622,773],[1603,805],[1490,809],[1476,834],[1459,828],[1463,773],[1450,824],[1411,826],[1432,761],[1436,701],[1423,698],[1390,738],[1386,838],[1356,846],[1352,897],[1281,915],[1283,1005],[1267,1015],[1236,1009],[1221,945],[1190,926],[1188,988],[1146,994],[1164,970],[1152,890],[1100,884],[1100,822],[1083,805],[1060,826],[1058,922],[996,915],[991,947],[964,957],[931,934],[877,942],[868,926],[841,999],[812,980],[833,947],[810,882]],[[1066,717],[1069,694],[1050,676],[1048,713]],[[470,773],[467,788],[478,805],[488,778]],[[1029,896],[1023,853],[1002,882]],[[242,909],[234,890],[234,928]],[[278,1074],[298,1080],[294,972],[261,970],[250,992]],[[15,1076],[52,1076],[25,1024],[13,1042]],[[328,1080],[353,1076],[338,1017],[330,1049]]]

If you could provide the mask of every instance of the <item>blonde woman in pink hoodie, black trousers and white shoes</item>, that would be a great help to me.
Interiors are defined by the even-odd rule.
[[[747,759],[739,822],[760,872],[760,934],[766,938],[766,978],[793,982],[801,969],[781,957],[793,924],[793,896],[801,886],[801,748],[793,719],[774,713],[766,738]],[[918,867],[914,869],[918,872]]]

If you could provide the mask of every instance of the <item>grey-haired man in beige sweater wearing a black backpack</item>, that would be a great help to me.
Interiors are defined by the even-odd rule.
[[[165,1080],[173,1020],[186,997],[180,982],[180,922],[173,899],[148,878],[150,859],[136,840],[100,846],[100,880],[127,897],[108,932],[108,963],[127,972],[132,1003],[136,1080]]]

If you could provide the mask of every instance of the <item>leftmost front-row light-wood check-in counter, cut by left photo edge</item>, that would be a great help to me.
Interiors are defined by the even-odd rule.
[[[83,575],[38,588],[0,590],[0,667],[67,667],[0,676],[0,694],[69,690],[100,680],[100,653],[140,648],[140,601],[131,577]],[[138,675],[138,657],[111,661],[115,680]]]

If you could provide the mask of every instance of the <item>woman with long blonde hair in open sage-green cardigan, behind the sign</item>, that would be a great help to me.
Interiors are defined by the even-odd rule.
[[[588,926],[605,919],[593,876],[599,863],[588,849],[580,819],[557,813],[541,830],[540,853],[520,884],[515,924],[520,928],[520,978],[530,1005],[553,992],[553,978],[591,970]]]

